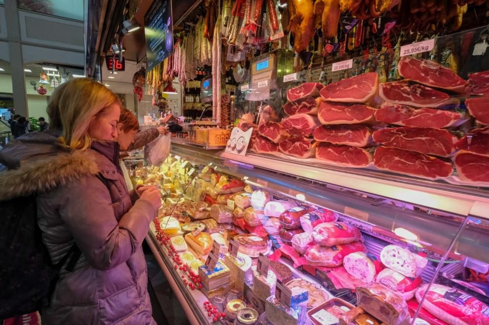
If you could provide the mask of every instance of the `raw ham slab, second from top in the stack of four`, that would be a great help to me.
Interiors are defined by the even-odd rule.
[[[374,121],[375,108],[363,104],[320,102],[317,118],[323,124],[356,124]]]

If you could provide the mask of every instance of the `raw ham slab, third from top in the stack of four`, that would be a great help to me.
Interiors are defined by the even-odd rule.
[[[313,133],[316,141],[352,147],[367,146],[371,135],[370,128],[363,124],[321,125]]]

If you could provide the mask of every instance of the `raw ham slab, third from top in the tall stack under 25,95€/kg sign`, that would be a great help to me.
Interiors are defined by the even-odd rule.
[[[420,108],[415,109],[406,105],[384,103],[375,111],[378,122],[402,126],[443,128],[459,126],[464,122],[464,114],[454,111]]]

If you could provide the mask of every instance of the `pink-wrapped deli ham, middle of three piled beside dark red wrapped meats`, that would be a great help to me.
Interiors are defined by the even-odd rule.
[[[362,235],[357,227],[341,222],[320,223],[312,229],[316,244],[334,246],[358,242]]]

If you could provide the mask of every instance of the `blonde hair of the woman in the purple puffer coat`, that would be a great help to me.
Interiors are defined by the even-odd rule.
[[[63,130],[60,142],[71,149],[90,146],[89,124],[119,98],[106,86],[88,78],[75,78],[61,84],[47,105],[49,129]]]

